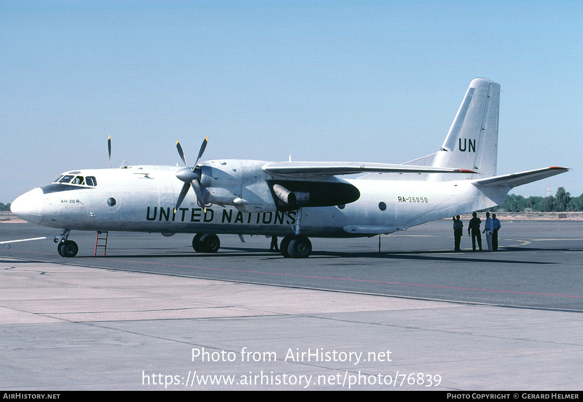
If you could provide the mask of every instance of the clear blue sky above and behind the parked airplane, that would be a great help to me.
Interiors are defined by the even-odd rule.
[[[462,4],[460,4],[462,3]],[[498,174],[583,193],[583,2],[0,3],[0,202],[63,171],[194,160],[403,163],[470,81],[501,84]]]

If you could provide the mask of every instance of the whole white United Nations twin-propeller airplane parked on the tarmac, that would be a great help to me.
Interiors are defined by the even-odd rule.
[[[470,83],[441,148],[403,164],[201,161],[180,142],[176,166],[122,164],[72,170],[19,196],[12,212],[62,230],[57,251],[74,257],[72,230],[194,233],[196,252],[219,250],[219,234],[283,237],[285,258],[311,254],[310,237],[373,237],[504,203],[511,188],[568,171],[496,175],[500,84]],[[342,175],[364,174],[357,178]],[[191,191],[192,188],[192,191]],[[59,239],[60,238],[60,239]]]

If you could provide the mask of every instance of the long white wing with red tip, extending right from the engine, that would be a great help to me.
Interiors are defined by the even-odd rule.
[[[279,176],[335,176],[363,172],[391,173],[476,173],[467,169],[359,162],[273,162],[262,167]]]

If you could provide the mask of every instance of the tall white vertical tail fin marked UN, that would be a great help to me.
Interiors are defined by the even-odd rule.
[[[496,175],[499,109],[500,84],[483,78],[474,79],[441,149],[405,164],[455,167],[480,173],[467,178]],[[427,179],[431,181],[458,179],[453,176],[435,173],[428,175]]]

